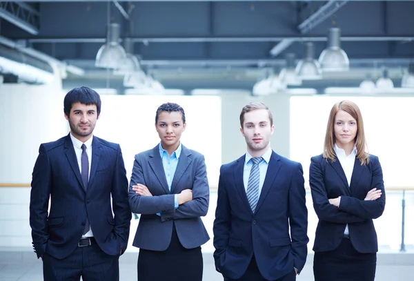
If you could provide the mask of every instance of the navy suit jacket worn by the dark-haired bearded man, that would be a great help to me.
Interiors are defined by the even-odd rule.
[[[119,255],[121,248],[125,251],[132,214],[121,147],[93,137],[85,191],[70,135],[41,144],[30,192],[30,226],[37,257],[46,252],[63,259],[75,251],[87,215],[102,251],[108,255]]]

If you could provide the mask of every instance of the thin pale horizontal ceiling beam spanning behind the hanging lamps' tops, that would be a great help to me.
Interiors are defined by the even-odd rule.
[[[326,41],[326,36],[309,37],[131,37],[135,43],[243,43],[243,42],[279,42],[279,41]],[[104,37],[89,38],[33,38],[23,39],[29,43],[105,43]],[[341,41],[414,41],[412,36],[344,36]]]

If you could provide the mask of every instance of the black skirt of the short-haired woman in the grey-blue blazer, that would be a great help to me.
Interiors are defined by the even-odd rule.
[[[170,246],[165,251],[139,249],[138,281],[201,281],[203,255],[201,246],[186,249],[172,226]]]

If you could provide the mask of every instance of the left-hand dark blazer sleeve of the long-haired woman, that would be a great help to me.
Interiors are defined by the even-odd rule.
[[[357,215],[341,211],[337,206],[329,203],[322,175],[322,166],[315,157],[311,158],[311,166],[309,167],[309,185],[311,186],[313,208],[319,220],[339,224],[350,224],[366,220]]]

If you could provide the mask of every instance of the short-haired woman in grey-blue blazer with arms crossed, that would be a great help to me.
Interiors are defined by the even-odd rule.
[[[135,155],[130,180],[132,213],[141,214],[133,246],[139,281],[201,281],[201,245],[210,238],[201,222],[210,189],[204,156],[180,142],[184,109],[162,104],[155,116],[161,142]]]

